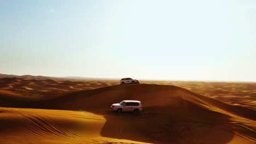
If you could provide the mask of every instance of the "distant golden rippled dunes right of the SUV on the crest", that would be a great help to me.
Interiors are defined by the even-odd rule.
[[[143,83],[179,86],[231,105],[252,107],[256,110],[255,82],[143,81]]]

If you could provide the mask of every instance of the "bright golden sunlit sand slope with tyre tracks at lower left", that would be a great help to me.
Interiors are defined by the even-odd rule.
[[[140,143],[103,137],[103,116],[90,112],[0,108],[0,143]]]

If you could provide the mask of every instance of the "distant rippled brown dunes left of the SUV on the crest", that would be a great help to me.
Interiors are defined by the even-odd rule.
[[[92,81],[92,80],[30,80],[21,78],[1,78],[0,91],[5,93],[0,95],[7,95],[16,93],[25,99],[45,99],[55,97],[56,93],[66,93],[74,91],[82,91],[87,89],[94,89],[99,87],[106,87],[117,85],[117,81]],[[58,94],[59,95],[59,94]],[[11,96],[11,95],[10,95]]]

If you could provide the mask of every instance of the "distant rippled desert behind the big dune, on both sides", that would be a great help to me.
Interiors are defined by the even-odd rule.
[[[39,76],[40,77],[40,76]],[[51,99],[75,91],[118,85],[116,80],[61,80],[1,78],[0,95],[19,94],[21,99]],[[195,93],[223,101],[230,105],[240,105],[256,109],[256,83],[238,82],[193,82],[193,81],[141,81],[141,83],[174,85]],[[2,90],[5,92],[3,93]]]

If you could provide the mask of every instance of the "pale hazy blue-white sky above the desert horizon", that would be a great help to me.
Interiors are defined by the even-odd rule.
[[[255,28],[255,0],[0,0],[0,73],[256,81]]]

